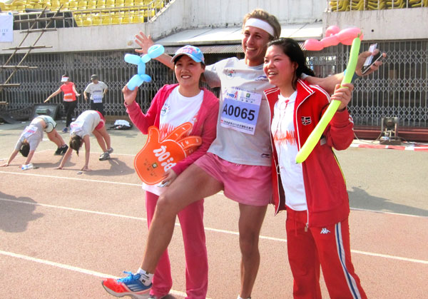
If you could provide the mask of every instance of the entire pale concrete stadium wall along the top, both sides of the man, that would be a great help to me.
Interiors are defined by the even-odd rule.
[[[427,39],[428,8],[325,13],[327,2],[320,0],[173,0],[152,22],[58,29],[46,32],[37,45],[53,46],[37,52],[98,51],[133,49],[138,31],[161,39],[185,29],[241,26],[245,14],[256,8],[275,14],[281,24],[307,24],[322,19],[327,26],[341,29],[360,27],[366,40]],[[309,8],[309,9],[308,9]],[[30,34],[30,45],[39,34]],[[23,34],[14,31],[14,43],[2,43],[1,49],[18,46]],[[9,54],[11,51],[1,51]]]

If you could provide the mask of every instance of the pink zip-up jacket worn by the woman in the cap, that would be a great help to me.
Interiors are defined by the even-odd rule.
[[[165,103],[171,91],[177,86],[178,84],[170,84],[159,89],[146,114],[141,111],[141,107],[136,101],[133,101],[131,105],[125,104],[129,118],[131,118],[131,121],[143,134],[148,133],[148,127],[150,126],[159,128],[163,103]],[[185,168],[188,168],[191,163],[198,160],[200,156],[203,156],[203,154],[208,151],[210,144],[214,141],[216,136],[217,117],[218,98],[211,91],[203,88],[203,101],[198,111],[198,118],[190,132],[190,135],[200,136],[202,138],[202,144],[196,151],[171,168],[177,175],[182,173]]]

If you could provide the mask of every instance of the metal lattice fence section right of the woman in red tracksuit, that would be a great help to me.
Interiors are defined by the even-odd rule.
[[[367,50],[370,42],[362,43]],[[428,127],[428,41],[384,41],[379,49],[387,59],[379,71],[355,82],[349,105],[355,124],[380,126],[385,116],[397,116],[400,126]],[[310,52],[308,59],[317,76],[343,71],[350,46]]]

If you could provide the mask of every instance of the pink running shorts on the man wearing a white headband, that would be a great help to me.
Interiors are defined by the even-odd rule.
[[[266,206],[272,199],[270,166],[230,163],[213,153],[205,153],[195,165],[223,183],[225,196],[249,206]]]

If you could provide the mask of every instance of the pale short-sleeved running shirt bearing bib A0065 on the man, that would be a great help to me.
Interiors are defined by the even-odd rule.
[[[272,88],[263,64],[247,66],[235,57],[206,66],[205,80],[221,86],[217,138],[208,152],[231,163],[270,166],[270,113],[263,91]]]

